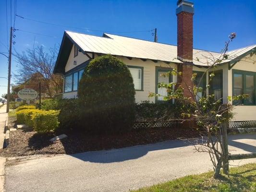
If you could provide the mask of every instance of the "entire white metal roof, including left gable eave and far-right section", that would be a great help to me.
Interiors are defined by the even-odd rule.
[[[67,41],[67,39],[69,40]],[[71,51],[72,43],[76,44],[84,53],[111,54],[131,58],[182,63],[181,60],[177,59],[177,46],[174,45],[107,33],[104,33],[103,36],[92,36],[65,31],[54,72],[63,73],[61,66],[67,60],[67,53]],[[252,51],[256,51],[256,45],[229,51],[226,53],[228,59],[222,60],[221,63],[239,60]],[[222,59],[220,53],[193,49],[193,63],[197,66],[207,67],[217,59]]]

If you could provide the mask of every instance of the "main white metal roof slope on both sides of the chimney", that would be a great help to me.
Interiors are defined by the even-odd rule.
[[[177,59],[177,46],[174,45],[106,33],[103,36],[92,36],[72,31],[65,31],[65,33],[83,52],[182,63],[181,60]],[[193,62],[195,65],[207,66],[207,58],[218,54],[212,51],[194,49]]]

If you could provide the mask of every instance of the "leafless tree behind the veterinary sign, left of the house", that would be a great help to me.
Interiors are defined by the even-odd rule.
[[[29,82],[34,84],[41,81],[49,97],[62,93],[62,78],[60,75],[53,74],[57,55],[58,48],[56,46],[50,48],[49,52],[46,52],[43,46],[33,47],[21,53],[15,52],[19,69],[15,74],[16,81],[18,83]]]

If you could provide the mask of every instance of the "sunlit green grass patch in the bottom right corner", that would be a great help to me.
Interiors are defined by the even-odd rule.
[[[229,177],[212,176],[212,171],[190,175],[133,192],[256,192],[256,163],[230,168]]]

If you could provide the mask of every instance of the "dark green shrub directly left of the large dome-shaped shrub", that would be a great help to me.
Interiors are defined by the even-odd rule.
[[[58,107],[60,110],[59,121],[61,131],[71,131],[78,127],[79,111],[77,99],[60,99]]]

